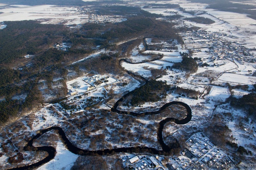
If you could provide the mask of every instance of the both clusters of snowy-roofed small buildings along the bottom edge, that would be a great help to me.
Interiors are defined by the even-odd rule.
[[[186,141],[185,146],[181,155],[170,157],[167,161],[163,161],[165,158],[161,156],[138,154],[120,155],[120,158],[124,167],[134,170],[229,169],[246,165],[232,157],[228,151],[215,146],[203,132],[192,135]]]

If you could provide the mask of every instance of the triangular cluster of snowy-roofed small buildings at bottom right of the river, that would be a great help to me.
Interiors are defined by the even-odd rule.
[[[243,164],[230,156],[228,151],[215,146],[203,132],[191,136],[185,145],[186,149],[182,155],[169,159],[170,162],[167,164],[169,169],[215,169],[218,167],[228,169],[234,165]]]

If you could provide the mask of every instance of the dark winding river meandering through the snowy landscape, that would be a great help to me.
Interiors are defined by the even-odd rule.
[[[157,60],[157,59],[154,59],[154,60]],[[153,60],[152,60],[153,61]],[[125,59],[121,59],[120,62],[128,62],[126,61]],[[145,63],[145,62],[148,62],[148,61],[144,61],[144,62],[141,62],[141,63]],[[130,63],[130,62],[129,62]],[[131,64],[137,64],[137,63],[131,63]],[[138,77],[138,75],[135,75],[131,72],[128,72],[128,74],[132,74],[133,76],[136,76]],[[140,77],[140,76],[139,76]],[[147,79],[143,78],[143,77],[140,77],[141,79],[143,79],[144,81],[146,81],[146,83],[148,82]],[[127,111],[119,111],[117,109],[118,107],[118,103],[122,102],[126,97],[128,97],[129,95],[131,95],[133,91],[129,92],[128,94],[124,95],[121,99],[119,99],[115,105],[111,108],[111,111],[112,112],[116,112],[117,114],[128,114],[129,115],[132,115],[132,116],[138,116],[138,115],[141,115],[141,113],[135,113],[135,112],[127,112]],[[170,122],[170,121],[174,121],[174,123],[176,124],[186,124],[188,123],[190,120],[191,120],[191,117],[192,117],[192,111],[191,111],[191,108],[186,104],[186,103],[183,103],[183,102],[177,102],[177,101],[173,101],[173,102],[169,102],[169,103],[166,103],[165,105],[163,105],[158,111],[154,111],[154,112],[144,112],[143,114],[144,115],[156,115],[156,114],[160,114],[165,108],[169,107],[170,105],[173,105],[173,104],[180,104],[182,106],[184,106],[186,108],[186,111],[187,111],[187,116],[186,118],[182,119],[182,120],[179,120],[179,119],[175,119],[175,118],[166,118],[162,121],[160,121],[158,123],[158,128],[157,128],[157,139],[158,139],[158,142],[160,144],[160,146],[162,147],[162,150],[157,150],[155,148],[149,148],[149,147],[141,147],[141,146],[136,146],[136,147],[128,147],[128,148],[116,148],[116,149],[104,149],[104,150],[85,150],[85,149],[81,149],[77,146],[75,146],[75,144],[71,143],[69,141],[69,139],[67,138],[65,132],[62,130],[62,128],[58,127],[58,126],[53,126],[51,128],[47,128],[47,129],[43,129],[43,130],[40,130],[40,132],[38,132],[37,135],[35,135],[28,143],[27,145],[24,147],[24,150],[27,151],[28,148],[32,151],[45,151],[48,153],[48,156],[46,156],[44,159],[40,160],[39,162],[37,163],[34,163],[34,164],[31,164],[31,165],[28,165],[28,166],[24,166],[24,167],[16,167],[16,168],[12,168],[12,169],[30,169],[30,168],[35,168],[35,167],[39,167],[47,162],[49,162],[50,160],[52,160],[55,155],[56,155],[56,149],[52,146],[43,146],[43,147],[33,147],[33,142],[38,139],[40,136],[42,136],[43,134],[45,134],[46,132],[48,131],[51,131],[51,130],[57,130],[57,133],[59,134],[61,140],[63,141],[63,144],[66,146],[66,148],[74,153],[74,154],[79,154],[79,155],[94,155],[94,154],[99,154],[99,155],[106,155],[106,154],[112,154],[112,153],[120,153],[120,152],[125,152],[125,153],[141,153],[141,152],[148,152],[148,153],[152,153],[152,154],[159,154],[159,153],[162,153],[162,152],[169,152],[171,149],[173,149],[172,147],[168,146],[165,144],[165,142],[163,141],[163,137],[162,137],[162,131],[163,131],[163,128],[165,126],[165,124],[167,122]]]

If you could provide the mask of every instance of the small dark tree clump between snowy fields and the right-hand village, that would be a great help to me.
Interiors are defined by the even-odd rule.
[[[198,69],[197,63],[193,58],[183,56],[181,63],[174,63],[172,68],[181,69],[183,71],[189,71],[195,73]]]

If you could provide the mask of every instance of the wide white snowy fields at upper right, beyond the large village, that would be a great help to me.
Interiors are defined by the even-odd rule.
[[[142,2],[141,2],[142,3]],[[206,14],[202,14],[199,16],[210,18],[215,21],[213,24],[205,25],[198,24],[190,21],[182,21],[183,25],[186,26],[197,26],[201,27],[202,30],[207,30],[211,32],[222,32],[237,36],[239,39],[245,41],[244,45],[247,48],[256,47],[256,36],[254,34],[254,30],[256,29],[255,23],[256,20],[248,17],[246,14],[239,14],[233,12],[224,12],[217,11],[213,9],[206,8],[207,4],[202,3],[192,3],[188,1],[165,1],[158,3],[171,3],[171,4],[179,4],[181,7],[185,8],[186,11],[205,11]],[[237,3],[237,2],[236,2]],[[248,4],[255,5],[254,2],[247,2]],[[165,11],[174,11],[177,14],[182,15],[184,17],[194,17],[190,14],[183,13],[179,11],[179,9],[163,9],[163,8],[146,8],[145,11],[155,14],[163,14],[163,15],[173,15],[172,13],[165,13]],[[210,15],[209,15],[210,14]]]

